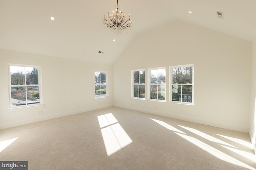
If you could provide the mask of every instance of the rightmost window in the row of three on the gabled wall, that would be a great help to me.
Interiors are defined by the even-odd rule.
[[[172,102],[193,103],[194,66],[172,66],[171,70],[171,100]]]

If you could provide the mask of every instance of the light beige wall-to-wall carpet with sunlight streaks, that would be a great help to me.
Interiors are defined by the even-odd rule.
[[[12,139],[12,140],[10,140]],[[0,130],[29,170],[255,170],[247,133],[109,107]]]

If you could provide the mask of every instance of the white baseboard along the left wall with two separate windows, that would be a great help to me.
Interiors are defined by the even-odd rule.
[[[6,124],[0,125],[0,129],[7,129],[7,128],[10,128],[10,127],[26,125],[26,124],[35,123],[35,122],[38,122],[38,121],[45,121],[45,120],[55,119],[55,118],[58,118],[58,117],[64,117],[64,116],[68,116],[68,115],[84,113],[84,112],[87,112],[87,111],[93,111],[93,110],[103,109],[103,108],[112,107],[112,106],[113,105],[90,107],[90,108],[86,108],[86,109],[81,109],[81,110],[76,110],[76,111],[69,111],[69,112],[66,112],[66,113],[60,113],[60,114],[57,114],[57,115],[38,117],[38,118],[28,119],[28,120],[24,120],[24,121],[18,121],[18,122],[14,122],[14,123],[6,123]]]

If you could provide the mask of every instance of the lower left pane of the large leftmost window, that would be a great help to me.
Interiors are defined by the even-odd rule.
[[[12,106],[26,105],[26,88],[11,87]]]

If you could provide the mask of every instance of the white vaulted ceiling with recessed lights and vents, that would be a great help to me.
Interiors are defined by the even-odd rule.
[[[118,4],[133,21],[131,30],[121,35],[103,26],[103,16],[115,9],[116,0],[0,0],[0,49],[111,64],[139,33],[174,20],[248,41],[256,38],[256,0],[119,0]],[[216,11],[223,12],[224,19]]]

